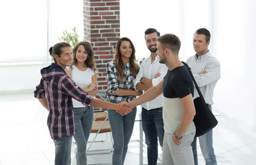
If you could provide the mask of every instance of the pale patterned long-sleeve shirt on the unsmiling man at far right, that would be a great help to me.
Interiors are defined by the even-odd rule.
[[[206,54],[197,57],[190,56],[187,61],[191,72],[195,77],[195,81],[204,96],[207,104],[213,104],[213,90],[217,81],[220,78],[220,63],[214,56],[210,55],[210,51]],[[206,70],[206,74],[199,74],[201,71]],[[199,97],[197,89],[194,90],[194,98]]]

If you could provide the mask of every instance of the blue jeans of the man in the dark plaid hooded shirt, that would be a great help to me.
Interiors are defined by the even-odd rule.
[[[72,135],[60,137],[55,142],[55,165],[70,165]]]

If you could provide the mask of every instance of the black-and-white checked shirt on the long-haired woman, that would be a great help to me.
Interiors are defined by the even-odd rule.
[[[117,63],[115,61],[110,61],[107,64],[107,80],[108,80],[108,89],[113,94],[117,89],[135,89],[134,80],[135,76],[130,72],[130,62],[124,63],[124,81],[120,83],[119,76],[117,74]],[[107,98],[110,98],[112,101],[126,101],[130,102],[135,99],[136,96],[117,96],[110,95],[107,91]]]

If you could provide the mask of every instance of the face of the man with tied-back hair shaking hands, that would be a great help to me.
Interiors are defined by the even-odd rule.
[[[61,50],[61,56],[55,54],[55,60],[57,61],[57,65],[60,65],[65,69],[66,66],[70,66],[72,63],[71,47],[62,47]]]

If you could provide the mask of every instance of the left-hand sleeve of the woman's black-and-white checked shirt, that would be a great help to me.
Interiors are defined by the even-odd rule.
[[[108,80],[108,89],[113,94],[115,91],[119,89],[119,83],[117,81],[117,69],[115,69],[114,65],[107,64],[107,80]]]

